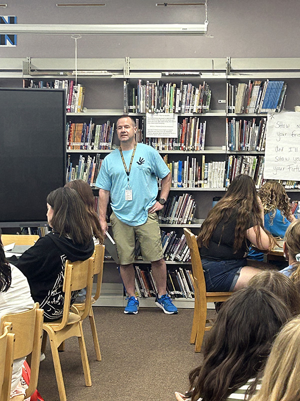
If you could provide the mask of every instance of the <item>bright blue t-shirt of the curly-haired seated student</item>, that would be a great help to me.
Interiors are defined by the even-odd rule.
[[[281,212],[276,209],[275,216],[273,219],[274,212],[269,212],[264,215],[264,228],[269,231],[274,237],[283,238],[287,227],[290,222],[281,215]],[[254,251],[252,248],[249,249],[248,259],[263,261],[263,253]]]

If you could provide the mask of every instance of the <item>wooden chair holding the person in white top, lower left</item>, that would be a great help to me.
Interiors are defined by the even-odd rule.
[[[15,335],[13,359],[23,358],[31,354],[30,381],[25,392],[25,398],[30,397],[37,386],[42,322],[43,310],[39,309],[38,303],[35,303],[34,307],[26,312],[10,313],[1,317],[1,328],[7,324],[12,324],[12,332]],[[9,385],[9,391],[10,383],[11,378],[9,383],[6,383]],[[19,396],[18,399],[20,399]]]

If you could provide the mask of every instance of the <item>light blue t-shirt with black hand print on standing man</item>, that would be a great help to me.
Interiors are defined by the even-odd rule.
[[[123,150],[127,169],[133,149]],[[164,178],[170,170],[151,146],[138,143],[129,174],[132,200],[125,200],[127,174],[119,149],[113,150],[102,161],[96,180],[98,188],[110,191],[111,209],[115,216],[128,226],[140,226],[147,221],[148,209],[156,202],[157,180]]]

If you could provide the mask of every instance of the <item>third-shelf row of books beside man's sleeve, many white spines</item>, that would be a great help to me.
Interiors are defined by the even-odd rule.
[[[167,154],[163,159],[171,171],[171,187],[183,188],[222,188],[225,177],[225,161],[202,162],[196,157],[186,157],[186,160],[167,162]]]

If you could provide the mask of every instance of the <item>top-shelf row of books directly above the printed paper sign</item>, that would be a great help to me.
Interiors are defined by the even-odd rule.
[[[145,84],[138,80],[137,87],[124,81],[124,113],[206,113],[209,110],[211,91],[209,85],[195,87],[160,81]]]

